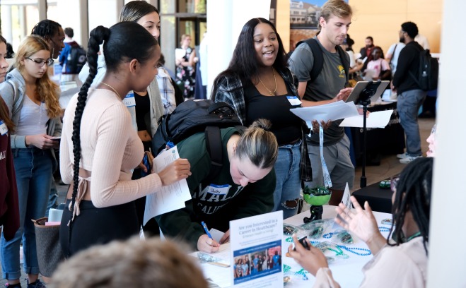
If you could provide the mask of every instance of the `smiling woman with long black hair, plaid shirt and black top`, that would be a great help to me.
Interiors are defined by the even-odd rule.
[[[307,128],[290,111],[301,107],[297,85],[275,26],[267,19],[252,18],[240,32],[230,65],[214,80],[211,95],[216,102],[230,104],[244,126],[260,118],[272,122],[279,143],[273,211],[283,210],[284,218],[298,211],[301,180],[312,179]]]

